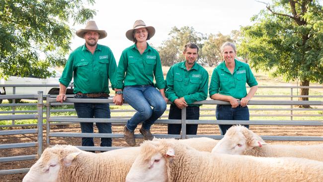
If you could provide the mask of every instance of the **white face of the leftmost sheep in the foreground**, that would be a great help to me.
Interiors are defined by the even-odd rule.
[[[61,169],[58,156],[48,156],[45,152],[30,168],[22,182],[57,182]]]

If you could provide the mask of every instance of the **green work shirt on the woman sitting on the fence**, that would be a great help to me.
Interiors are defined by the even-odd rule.
[[[161,58],[157,50],[147,43],[143,54],[137,49],[136,44],[126,48],[118,64],[115,88],[123,89],[126,86],[154,85],[165,88],[165,81],[161,70]]]

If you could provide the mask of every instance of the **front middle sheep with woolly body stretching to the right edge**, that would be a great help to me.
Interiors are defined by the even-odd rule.
[[[200,152],[175,140],[141,145],[126,182],[322,182],[323,162]]]

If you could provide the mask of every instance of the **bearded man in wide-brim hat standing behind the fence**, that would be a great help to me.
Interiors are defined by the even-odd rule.
[[[97,44],[98,39],[107,36],[104,30],[99,30],[95,21],[88,21],[85,28],[76,32],[85,40],[85,44],[74,50],[67,60],[60,78],[60,93],[56,100],[66,100],[66,88],[74,77],[74,98],[109,97],[109,79],[114,88],[116,62],[111,49]],[[74,103],[79,118],[110,118],[108,103]],[[82,133],[93,133],[93,121],[80,123]],[[111,133],[111,123],[96,122],[99,133]],[[100,146],[110,147],[111,138],[101,138]],[[82,138],[82,146],[94,146],[93,138]]]

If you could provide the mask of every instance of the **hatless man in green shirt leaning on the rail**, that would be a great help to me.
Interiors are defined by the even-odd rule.
[[[167,76],[166,97],[170,105],[168,119],[181,119],[182,108],[186,107],[186,119],[199,119],[200,105],[195,101],[205,100],[208,95],[208,72],[196,63],[198,47],[188,43],[184,47],[185,61],[170,67]],[[168,134],[180,134],[181,124],[168,124]],[[197,124],[187,124],[186,134],[196,135]]]

